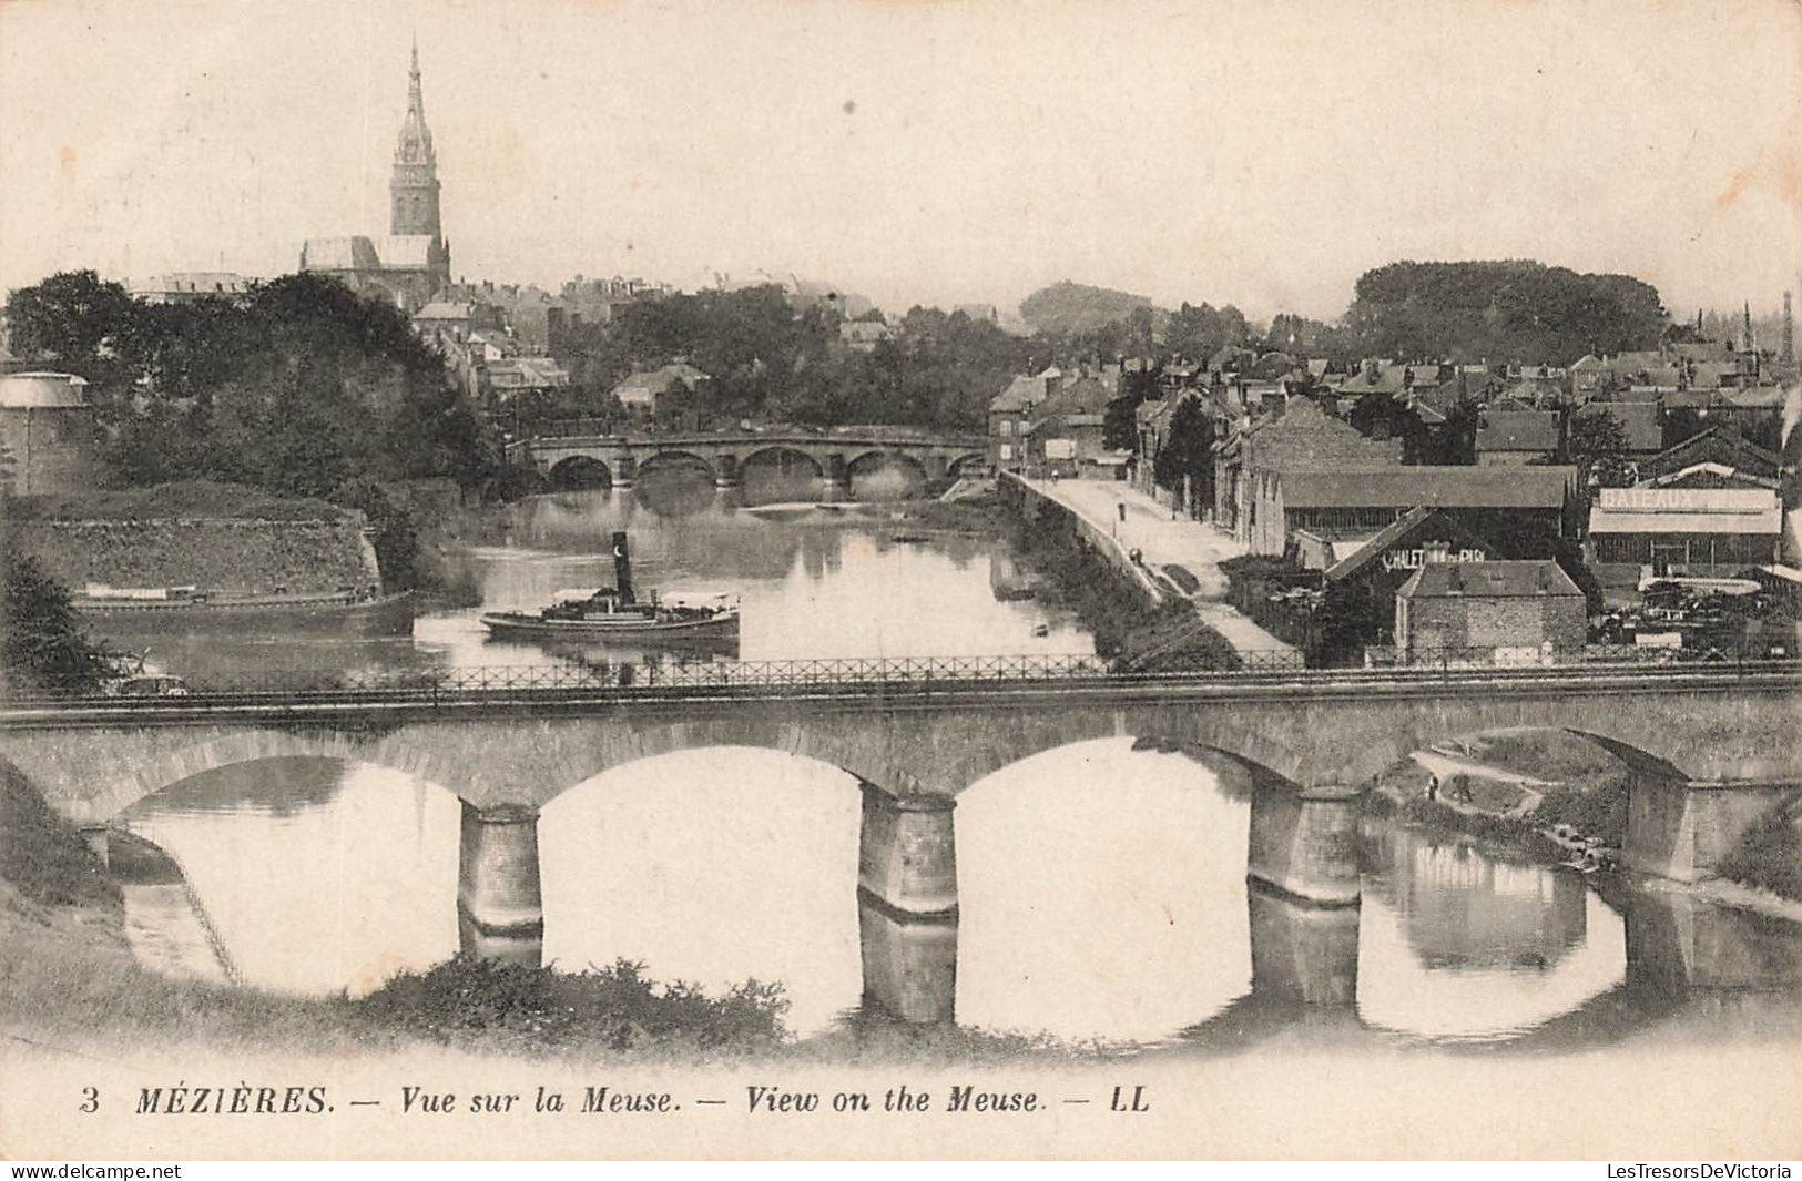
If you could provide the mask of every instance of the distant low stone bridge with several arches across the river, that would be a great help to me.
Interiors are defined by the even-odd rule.
[[[600,467],[613,487],[631,487],[647,469],[669,462],[703,465],[715,485],[733,487],[746,463],[789,456],[813,463],[820,483],[838,490],[849,490],[851,478],[878,462],[912,467],[926,483],[957,480],[969,467],[987,463],[987,438],[982,435],[905,427],[548,435],[514,447],[515,456],[553,483],[580,469]]]

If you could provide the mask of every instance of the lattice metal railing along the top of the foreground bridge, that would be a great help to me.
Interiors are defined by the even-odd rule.
[[[1056,689],[1060,685],[1373,685],[1597,680],[1597,678],[1762,678],[1802,674],[1802,662],[1782,658],[1679,660],[1670,651],[1591,647],[1582,658],[1526,660],[1496,649],[1371,649],[1362,667],[1308,669],[1296,651],[1220,653],[1209,658],[1159,656],[1133,667],[1105,656],[912,656],[822,660],[654,658],[541,665],[470,665],[330,674],[231,676],[195,682],[148,678],[92,685],[13,685],[7,707],[205,707],[238,703],[452,703],[481,700],[636,700],[661,696],[870,696],[930,694],[980,689]],[[1798,682],[1802,683],[1802,682]]]

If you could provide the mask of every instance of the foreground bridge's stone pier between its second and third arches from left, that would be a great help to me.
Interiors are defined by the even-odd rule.
[[[948,795],[863,784],[858,889],[905,916],[957,914],[957,831]]]

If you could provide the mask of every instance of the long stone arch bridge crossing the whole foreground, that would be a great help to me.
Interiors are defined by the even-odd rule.
[[[842,768],[897,815],[942,811],[948,838],[957,793],[987,774],[1070,743],[1130,736],[1184,750],[1252,797],[1254,820],[1269,819],[1261,838],[1254,831],[1254,873],[1261,842],[1267,882],[1348,902],[1355,865],[1348,898],[1332,833],[1355,826],[1370,781],[1415,750],[1505,727],[1571,730],[1618,755],[1633,781],[1629,862],[1703,876],[1748,824],[1793,804],[1802,784],[1797,707],[1793,671],[1681,669],[1557,669],[1523,680],[890,683],[856,692],[815,685],[760,696],[685,687],[198,698],[13,709],[0,714],[0,757],[76,824],[105,826],[191,775],[283,755],[377,763],[436,783],[478,813],[535,817],[562,792],[636,759],[760,746]]]

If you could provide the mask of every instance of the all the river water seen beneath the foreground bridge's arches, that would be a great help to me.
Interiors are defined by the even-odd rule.
[[[189,779],[124,817],[168,851],[117,849],[133,948],[159,972],[229,965],[305,993],[368,992],[458,948],[564,970],[625,957],[712,992],[780,981],[802,1037],[847,1015],[1227,1053],[1270,1037],[1570,1049],[1649,1028],[1802,1033],[1791,923],[1382,826],[1362,905],[1314,907],[1247,887],[1243,793],[1124,737],[959,797],[951,920],[861,894],[856,781],[780,752],[645,759],[548,804],[542,932],[460,925],[463,815],[362,764]]]

